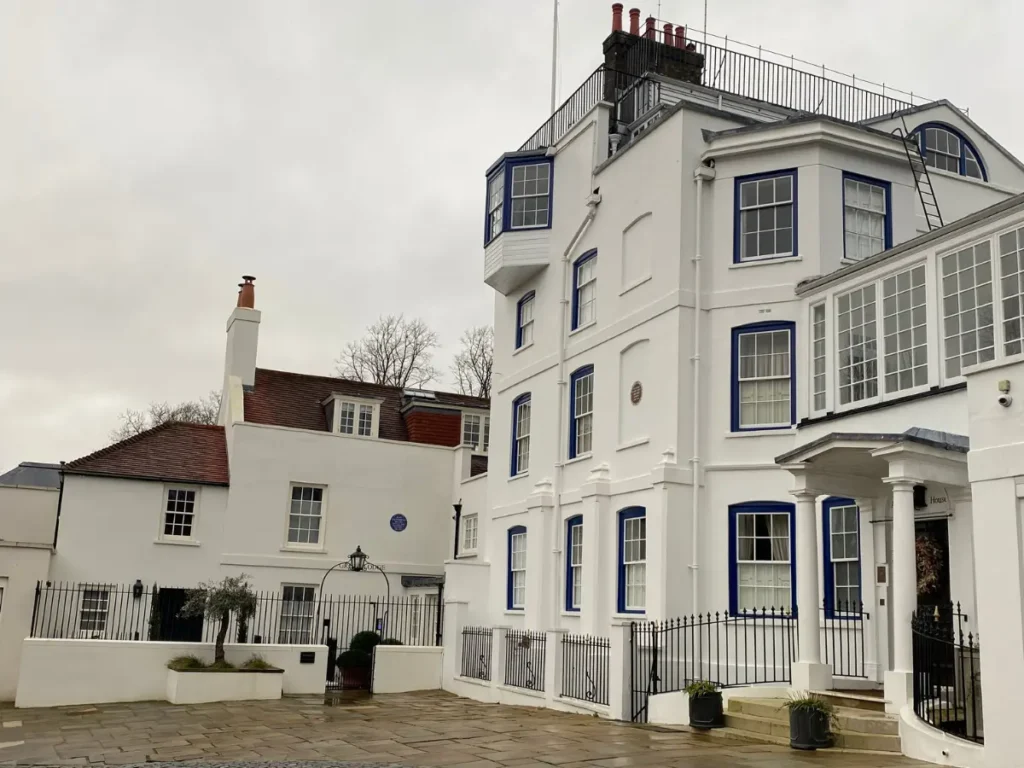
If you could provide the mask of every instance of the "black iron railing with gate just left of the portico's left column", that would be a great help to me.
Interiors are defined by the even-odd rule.
[[[797,658],[797,618],[763,608],[706,613],[630,628],[632,719],[646,722],[647,698],[696,680],[723,688],[787,683]]]

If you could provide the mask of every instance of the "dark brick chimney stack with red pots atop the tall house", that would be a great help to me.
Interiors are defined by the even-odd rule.
[[[611,6],[611,34],[604,41],[604,66],[626,76],[609,77],[605,85],[605,98],[614,100],[614,92],[628,83],[620,80],[654,73],[695,85],[702,84],[705,57],[696,50],[686,49],[686,29],[682,26],[657,22],[648,15],[643,29],[640,27],[640,9],[630,9],[630,30],[622,28],[622,3]],[[674,31],[673,31],[674,30]]]

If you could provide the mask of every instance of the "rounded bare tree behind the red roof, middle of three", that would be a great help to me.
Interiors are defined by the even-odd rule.
[[[337,374],[394,387],[422,387],[440,375],[433,366],[436,348],[437,334],[422,319],[382,315],[361,339],[345,345]]]

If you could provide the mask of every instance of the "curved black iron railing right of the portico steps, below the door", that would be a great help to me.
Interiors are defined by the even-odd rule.
[[[913,711],[935,728],[979,743],[985,740],[981,648],[959,605],[924,608],[911,620]]]

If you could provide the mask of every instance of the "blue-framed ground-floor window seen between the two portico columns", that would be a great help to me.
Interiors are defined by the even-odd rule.
[[[821,503],[825,615],[859,618],[860,510],[853,499],[831,497]]]

